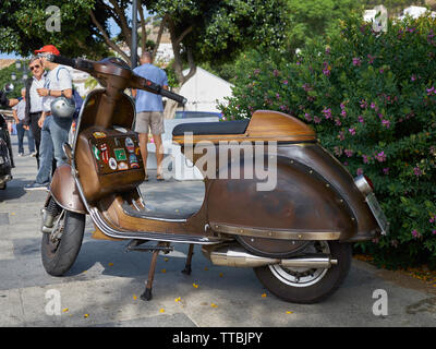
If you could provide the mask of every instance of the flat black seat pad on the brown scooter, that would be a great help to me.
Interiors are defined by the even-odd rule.
[[[243,134],[250,120],[219,121],[219,122],[193,122],[181,123],[172,130],[172,135],[184,135],[190,132],[193,135],[199,134]]]

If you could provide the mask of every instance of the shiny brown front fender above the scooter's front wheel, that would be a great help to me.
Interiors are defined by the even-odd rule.
[[[77,214],[87,214],[75,185],[74,177],[71,173],[70,165],[64,164],[56,169],[50,184],[50,193],[62,208]]]

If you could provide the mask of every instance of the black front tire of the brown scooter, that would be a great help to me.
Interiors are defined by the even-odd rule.
[[[49,275],[62,276],[70,270],[82,246],[85,221],[85,215],[65,210],[60,241],[53,244],[50,233],[43,233],[41,260]]]

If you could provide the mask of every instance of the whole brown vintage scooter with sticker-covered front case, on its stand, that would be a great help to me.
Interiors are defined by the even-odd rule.
[[[86,97],[73,145],[64,145],[70,165],[56,170],[41,210],[43,263],[50,275],[63,275],[73,265],[88,214],[94,238],[130,240],[128,250],[153,252],[144,300],[152,299],[158,254],[171,251],[171,243],[186,243],[186,274],[198,244],[216,265],[254,268],[279,298],[314,303],[347,276],[352,242],[386,233],[388,222],[371,181],[353,179],[310,127],[276,111],[174,128],[173,143],[205,178],[204,202],[191,214],[152,209],[138,189],[145,173],[131,130],[135,108],[123,92],[140,88],[179,103],[184,98],[137,76],[117,58],[48,59],[88,72],[104,86]],[[252,151],[253,161],[231,153],[241,145],[244,153]],[[261,170],[274,165],[276,185],[259,189],[265,177],[245,176],[255,163]],[[230,172],[235,176],[221,176]],[[142,245],[148,241],[156,245]]]

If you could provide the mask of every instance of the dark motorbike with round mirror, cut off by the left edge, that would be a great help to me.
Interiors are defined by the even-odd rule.
[[[13,84],[7,84],[3,93],[13,91]],[[12,168],[14,168],[12,142],[8,130],[7,117],[0,113],[0,190],[7,189],[7,183],[12,180]]]

